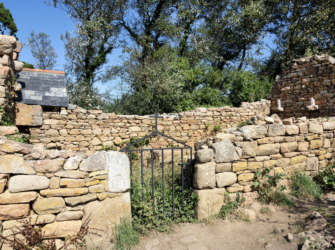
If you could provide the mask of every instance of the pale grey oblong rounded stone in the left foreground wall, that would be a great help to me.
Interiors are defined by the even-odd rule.
[[[8,190],[10,193],[19,193],[31,190],[49,188],[49,179],[39,175],[14,175],[9,179]]]

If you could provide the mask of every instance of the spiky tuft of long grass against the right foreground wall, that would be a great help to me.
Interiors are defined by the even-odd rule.
[[[318,199],[322,194],[320,186],[312,177],[300,171],[295,171],[291,176],[290,191],[297,198],[304,196]]]

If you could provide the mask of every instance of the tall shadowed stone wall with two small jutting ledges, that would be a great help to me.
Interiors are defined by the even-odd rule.
[[[317,118],[335,115],[335,59],[328,55],[291,60],[273,82],[272,112],[279,117]],[[315,105],[311,105],[314,98]],[[277,100],[281,108],[277,110]]]

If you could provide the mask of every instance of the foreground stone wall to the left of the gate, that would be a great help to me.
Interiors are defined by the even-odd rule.
[[[43,226],[57,239],[88,226],[90,245],[108,240],[114,222],[130,214],[130,173],[126,154],[46,150],[43,144],[0,139],[0,221],[2,236],[13,239],[24,221]],[[3,245],[1,249],[13,249]]]

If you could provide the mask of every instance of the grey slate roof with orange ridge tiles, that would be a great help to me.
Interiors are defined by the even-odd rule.
[[[23,69],[15,73],[22,86],[17,103],[52,107],[68,107],[65,75],[62,71]]]

